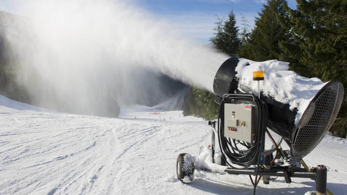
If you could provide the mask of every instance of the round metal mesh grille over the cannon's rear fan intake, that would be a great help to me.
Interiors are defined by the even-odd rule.
[[[343,100],[344,87],[331,82],[316,100],[307,107],[298,125],[293,142],[293,155],[301,159],[310,153],[333,125]]]

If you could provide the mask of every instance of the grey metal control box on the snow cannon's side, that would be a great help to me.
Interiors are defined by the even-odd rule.
[[[224,104],[224,137],[252,142],[257,124],[255,104]]]

